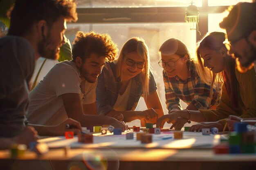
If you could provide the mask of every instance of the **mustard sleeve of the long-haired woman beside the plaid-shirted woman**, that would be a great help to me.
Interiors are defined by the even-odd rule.
[[[200,110],[204,115],[206,121],[218,121],[220,119],[225,119],[229,115],[240,116],[232,107],[231,99],[227,94],[227,90],[225,85],[222,85],[222,94],[220,97],[220,104],[216,107],[216,109],[210,110]]]

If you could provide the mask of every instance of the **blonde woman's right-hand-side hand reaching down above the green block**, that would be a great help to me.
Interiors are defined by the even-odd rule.
[[[158,114],[153,108],[148,110],[140,111],[137,113],[138,119],[145,119],[146,122],[155,124],[157,122]]]

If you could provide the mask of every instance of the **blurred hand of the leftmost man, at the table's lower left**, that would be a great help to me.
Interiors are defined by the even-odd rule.
[[[13,137],[16,144],[26,144],[28,147],[31,142],[35,142],[37,139],[37,131],[32,126],[27,126],[18,136]]]

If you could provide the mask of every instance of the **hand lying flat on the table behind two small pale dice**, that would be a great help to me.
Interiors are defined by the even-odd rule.
[[[194,131],[201,131],[202,128],[218,128],[219,131],[222,131],[224,126],[220,121],[216,122],[201,122],[200,124],[193,125],[189,128],[189,131],[194,132]]]

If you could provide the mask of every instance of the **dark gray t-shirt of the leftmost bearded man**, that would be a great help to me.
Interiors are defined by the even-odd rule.
[[[34,66],[34,49],[26,39],[0,38],[0,137],[16,136],[25,127]]]

